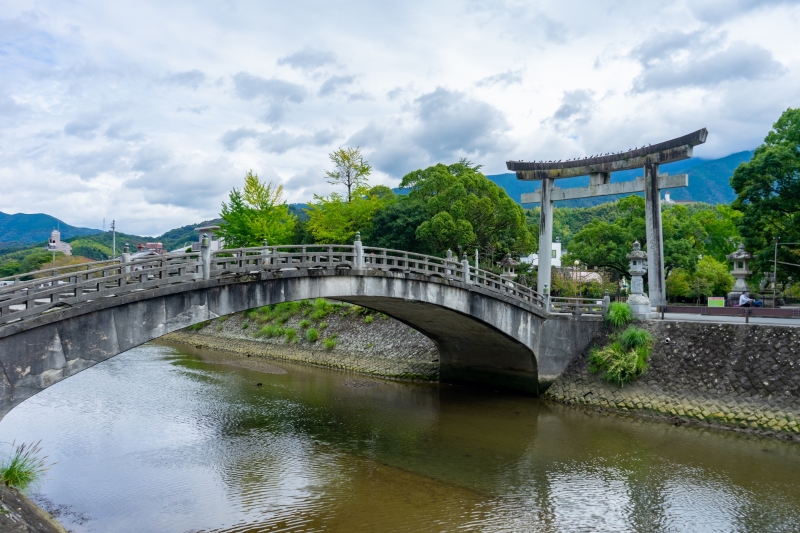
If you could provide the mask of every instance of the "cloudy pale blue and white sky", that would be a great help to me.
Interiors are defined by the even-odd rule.
[[[0,211],[160,234],[248,169],[290,202],[360,146],[372,183],[707,127],[751,149],[800,106],[800,1],[6,0]]]

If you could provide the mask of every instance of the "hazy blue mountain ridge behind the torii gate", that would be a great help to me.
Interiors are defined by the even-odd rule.
[[[736,198],[736,193],[730,185],[733,171],[741,163],[750,161],[753,152],[745,151],[731,154],[721,159],[703,160],[687,159],[663,165],[659,172],[669,174],[688,174],[689,186],[681,189],[670,189],[673,200],[692,200],[709,204],[727,204]],[[642,170],[624,170],[611,174],[611,182],[630,181],[642,176]],[[540,181],[521,181],[513,173],[486,176],[493,182],[503,187],[511,198],[520,201],[522,193],[532,192],[541,187]],[[562,189],[570,187],[584,187],[589,185],[589,176],[578,178],[564,178],[556,180],[556,186]],[[567,200],[556,202],[558,207],[591,207],[593,205],[611,202],[621,198],[621,195],[601,196],[597,198],[584,198],[580,200]]]

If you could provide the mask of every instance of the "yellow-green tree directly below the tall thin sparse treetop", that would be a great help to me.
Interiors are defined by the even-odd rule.
[[[314,197],[317,201],[308,209],[308,231],[320,243],[349,244],[356,232],[367,237],[372,229],[372,218],[381,209],[395,201],[392,190],[383,185],[366,189],[357,188],[349,202],[339,193],[329,197]],[[368,238],[364,239],[368,241]]]

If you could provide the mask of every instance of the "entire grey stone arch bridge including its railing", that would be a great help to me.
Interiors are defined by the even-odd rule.
[[[207,242],[204,241],[204,242]],[[352,246],[120,259],[0,286],[0,417],[69,376],[212,318],[311,298],[381,311],[439,349],[442,381],[538,394],[602,327],[598,302],[554,304],[463,260]],[[8,279],[0,283],[8,283]],[[554,305],[570,307],[553,312]]]

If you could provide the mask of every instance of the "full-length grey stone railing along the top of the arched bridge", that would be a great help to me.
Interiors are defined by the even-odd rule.
[[[490,292],[547,311],[542,295],[493,272],[470,266],[466,259],[355,245],[286,245],[166,254],[137,260],[98,261],[14,277],[0,285],[0,324],[99,298],[120,296],[177,283],[258,273],[263,270],[316,268],[377,269],[413,272],[480,286]],[[22,281],[20,278],[33,276]],[[2,280],[0,280],[2,281]],[[582,309],[582,308],[581,308]],[[587,309],[585,312],[592,312]]]

